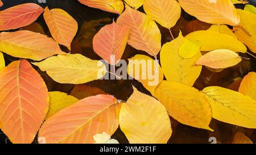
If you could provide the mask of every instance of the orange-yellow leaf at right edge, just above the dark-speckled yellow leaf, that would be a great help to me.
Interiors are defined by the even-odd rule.
[[[254,100],[256,100],[256,73],[250,72],[245,77],[240,84],[239,90],[243,95],[247,95]]]

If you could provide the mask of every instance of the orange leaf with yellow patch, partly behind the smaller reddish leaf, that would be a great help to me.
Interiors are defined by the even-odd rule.
[[[117,19],[117,24],[130,28],[129,45],[151,56],[158,54],[161,48],[161,33],[149,16],[126,5],[126,10]]]

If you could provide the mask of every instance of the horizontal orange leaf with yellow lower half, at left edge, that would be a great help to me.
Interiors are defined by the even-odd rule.
[[[50,37],[31,31],[1,32],[0,51],[20,58],[42,60],[44,58],[65,54]]]

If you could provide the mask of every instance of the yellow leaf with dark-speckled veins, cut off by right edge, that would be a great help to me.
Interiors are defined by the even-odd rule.
[[[203,93],[212,107],[213,118],[221,122],[256,128],[256,101],[222,87],[206,87]]]

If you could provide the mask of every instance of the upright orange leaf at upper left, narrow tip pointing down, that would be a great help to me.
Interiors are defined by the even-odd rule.
[[[44,9],[44,20],[54,40],[71,50],[71,42],[76,35],[78,24],[62,9]]]

